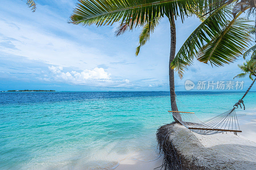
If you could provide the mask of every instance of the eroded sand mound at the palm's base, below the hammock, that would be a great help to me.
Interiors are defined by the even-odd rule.
[[[199,135],[180,124],[169,126],[170,140],[185,165],[199,169],[244,169],[256,167],[256,143],[232,132]]]

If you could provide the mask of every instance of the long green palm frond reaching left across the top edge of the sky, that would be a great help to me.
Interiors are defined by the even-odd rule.
[[[68,22],[101,26],[112,25],[119,20],[122,24],[128,23],[132,18],[133,27],[135,19],[140,19],[140,25],[151,20],[154,22],[154,18],[164,15],[170,18],[171,14],[184,19],[190,8],[195,6],[196,0],[79,0]]]

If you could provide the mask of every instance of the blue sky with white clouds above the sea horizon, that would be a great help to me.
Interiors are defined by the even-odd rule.
[[[118,23],[102,27],[68,24],[76,2],[37,0],[34,13],[25,0],[1,2],[0,90],[169,90],[170,24],[166,18],[136,57],[140,28],[115,37]],[[194,17],[186,18],[183,24],[176,21],[177,51],[199,24]],[[225,67],[212,68],[195,61],[182,80],[175,75],[176,91],[185,90],[186,80],[195,84],[233,81],[240,73],[239,63],[243,63],[242,58]],[[244,89],[251,83],[248,78],[238,81],[245,82]]]

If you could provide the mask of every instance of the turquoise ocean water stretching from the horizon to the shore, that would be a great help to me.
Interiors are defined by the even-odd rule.
[[[201,120],[233,108],[243,92],[177,92]],[[244,98],[255,113],[256,93]],[[157,158],[156,129],[173,121],[169,92],[2,92],[0,169],[112,169]]]

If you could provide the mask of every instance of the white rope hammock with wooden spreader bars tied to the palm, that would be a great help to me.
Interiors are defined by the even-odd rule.
[[[241,104],[244,106],[243,98],[247,95],[255,80],[256,78],[252,82],[251,86],[247,89],[244,96],[233,106],[231,110],[204,122],[199,120],[194,112],[179,112],[175,102],[172,104],[172,111],[168,112],[171,112],[172,116],[176,118],[183,126],[198,134],[212,135],[221,132],[234,132],[234,134],[237,135],[237,132],[242,131],[239,128],[235,109],[238,108],[238,105],[241,108]]]

